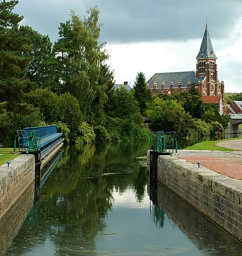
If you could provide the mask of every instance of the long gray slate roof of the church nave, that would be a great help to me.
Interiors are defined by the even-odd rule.
[[[198,80],[203,80],[204,77],[196,78],[195,71],[184,71],[184,72],[168,72],[168,73],[155,73],[149,80],[149,87],[153,88],[153,83],[157,83],[157,88],[161,88],[162,81],[165,81],[166,87],[170,87],[170,81],[173,81],[174,87],[178,88],[178,84],[181,81],[182,87],[187,87],[187,81],[190,80],[193,84],[198,83]]]

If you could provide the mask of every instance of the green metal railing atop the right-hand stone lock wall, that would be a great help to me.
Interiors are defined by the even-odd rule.
[[[151,132],[150,149],[156,152],[170,152],[170,154],[177,153],[177,139],[176,132],[164,131]]]

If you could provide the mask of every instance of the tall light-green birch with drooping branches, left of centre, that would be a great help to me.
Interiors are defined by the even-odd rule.
[[[100,90],[101,65],[108,59],[106,43],[99,43],[100,28],[97,6],[87,11],[83,20],[72,12],[73,43],[76,49],[71,57],[71,76],[68,90],[76,96],[85,115],[91,112],[91,103],[99,93],[99,98],[106,98],[106,91]],[[103,100],[101,100],[103,101]]]

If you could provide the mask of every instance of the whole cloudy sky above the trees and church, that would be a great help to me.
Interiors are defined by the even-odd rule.
[[[116,83],[133,86],[140,71],[147,80],[154,73],[195,71],[208,20],[218,78],[225,92],[242,92],[242,0],[19,0],[15,12],[54,42],[71,10],[83,17],[94,5]]]

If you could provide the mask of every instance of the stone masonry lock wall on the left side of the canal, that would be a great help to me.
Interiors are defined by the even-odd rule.
[[[0,220],[34,181],[34,156],[19,156],[0,166]]]

